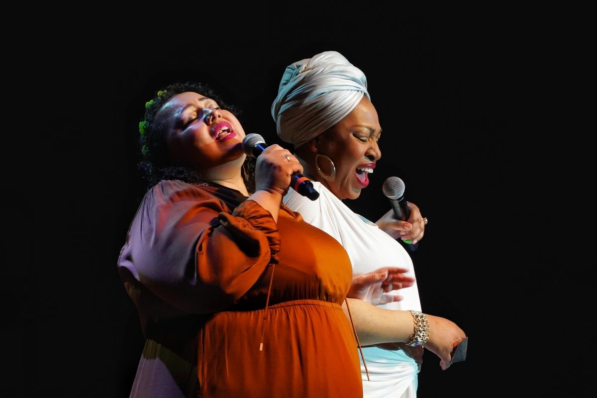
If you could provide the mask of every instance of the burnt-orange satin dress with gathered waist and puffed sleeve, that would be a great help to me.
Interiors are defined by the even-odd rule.
[[[245,199],[177,180],[143,199],[118,260],[147,338],[131,397],[361,398],[346,251]]]

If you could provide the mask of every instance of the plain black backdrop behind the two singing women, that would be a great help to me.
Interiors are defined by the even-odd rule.
[[[201,11],[193,24],[81,20],[48,33],[50,86],[31,92],[51,104],[35,124],[44,156],[23,160],[34,192],[4,189],[12,235],[29,242],[6,258],[8,393],[128,396],[143,338],[116,258],[143,196],[145,101],[170,81],[208,82],[246,132],[279,143],[270,106],[284,68],[336,50],[367,75],[383,128],[371,184],[347,205],[377,220],[383,181],[405,181],[429,218],[413,254],[423,310],[469,335],[466,361],[447,371],[426,351],[419,396],[587,394],[593,7],[318,10],[292,23],[284,10],[242,27],[223,4]]]

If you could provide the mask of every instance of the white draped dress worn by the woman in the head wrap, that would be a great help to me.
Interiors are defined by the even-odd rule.
[[[327,188],[312,181],[319,198],[310,200],[290,189],[284,203],[299,212],[307,223],[324,230],[344,246],[352,263],[353,275],[377,270],[381,267],[404,267],[408,276],[414,277],[413,261],[408,252],[376,224],[356,214]],[[404,300],[384,304],[393,310],[421,310],[417,282],[396,294]],[[403,396],[416,397],[417,363],[402,350],[364,347],[367,381],[361,363],[365,397]]]

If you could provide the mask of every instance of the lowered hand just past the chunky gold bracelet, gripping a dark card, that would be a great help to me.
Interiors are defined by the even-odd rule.
[[[429,321],[429,340],[423,347],[439,357],[439,366],[445,371],[450,368],[454,347],[466,337],[466,334],[451,320],[441,316],[425,315]]]

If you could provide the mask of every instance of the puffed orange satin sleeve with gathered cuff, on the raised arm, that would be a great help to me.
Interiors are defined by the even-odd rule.
[[[277,263],[280,243],[259,203],[246,200],[229,212],[208,190],[162,181],[143,199],[118,265],[173,307],[222,310]]]

